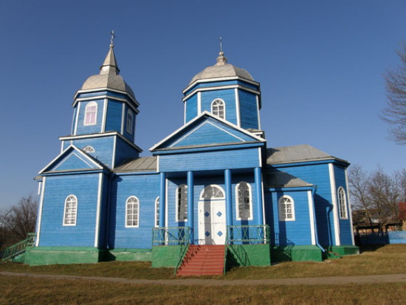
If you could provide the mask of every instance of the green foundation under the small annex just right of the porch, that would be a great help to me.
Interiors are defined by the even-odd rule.
[[[273,262],[321,262],[322,251],[317,246],[276,246],[271,248]]]

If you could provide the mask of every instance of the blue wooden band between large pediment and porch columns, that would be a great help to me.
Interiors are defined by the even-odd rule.
[[[258,148],[159,156],[159,171],[199,171],[259,167]]]

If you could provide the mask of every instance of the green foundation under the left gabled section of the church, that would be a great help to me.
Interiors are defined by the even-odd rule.
[[[103,261],[106,250],[92,247],[29,247],[24,263],[31,266],[44,264],[92,264]]]

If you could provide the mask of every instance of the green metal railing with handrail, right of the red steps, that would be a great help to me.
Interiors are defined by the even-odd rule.
[[[228,225],[224,247],[224,274],[227,268],[227,253],[233,245],[252,245],[270,242],[268,225]]]

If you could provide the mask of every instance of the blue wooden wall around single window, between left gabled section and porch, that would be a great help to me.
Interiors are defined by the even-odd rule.
[[[126,200],[139,200],[139,227],[125,227]],[[151,248],[159,175],[116,176],[110,192],[109,245],[112,248]]]

